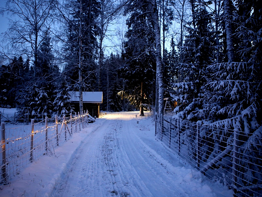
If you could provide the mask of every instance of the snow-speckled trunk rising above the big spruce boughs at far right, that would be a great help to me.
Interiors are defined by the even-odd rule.
[[[235,61],[235,51],[233,43],[233,31],[231,26],[232,11],[230,8],[230,0],[224,0],[224,16],[225,16],[225,29],[226,29],[226,51],[228,56],[228,62]],[[232,4],[232,3],[231,3]]]

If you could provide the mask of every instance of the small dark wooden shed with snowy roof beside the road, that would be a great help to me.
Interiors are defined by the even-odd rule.
[[[79,112],[79,92],[70,91],[69,94],[74,111]],[[99,117],[100,103],[103,103],[103,92],[83,92],[83,110],[87,110],[92,117]]]

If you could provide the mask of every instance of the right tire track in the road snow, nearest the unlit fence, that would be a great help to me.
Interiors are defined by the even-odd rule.
[[[172,184],[172,179],[175,176],[168,173],[167,169],[146,151],[142,143],[139,143],[140,140],[138,140],[137,136],[132,134],[135,131],[139,131],[139,129],[133,129],[135,121],[126,121],[126,123],[122,137],[124,149],[140,177],[139,184],[141,189],[145,190],[145,193],[148,190],[150,191],[150,193],[146,194],[147,196],[163,196],[163,194],[165,196],[181,196],[181,192],[178,192],[175,185]]]

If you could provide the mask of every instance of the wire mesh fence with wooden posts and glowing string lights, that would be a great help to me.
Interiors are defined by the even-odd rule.
[[[0,185],[9,183],[11,177],[41,155],[54,154],[55,147],[68,140],[88,124],[88,113],[68,117],[45,117],[30,125],[10,128],[1,123]],[[13,125],[12,125],[13,126]]]

